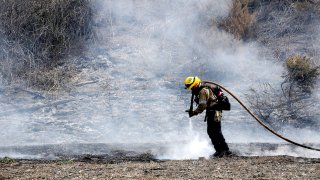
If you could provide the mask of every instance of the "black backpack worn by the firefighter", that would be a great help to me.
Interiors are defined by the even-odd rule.
[[[214,86],[209,83],[204,83],[202,88],[204,88],[204,87],[209,88],[218,99],[218,104],[216,107],[214,107],[215,110],[218,110],[218,111],[222,111],[222,110],[230,111],[231,110],[231,104],[229,102],[229,99],[227,96],[225,96],[223,94],[223,92],[219,86]]]

